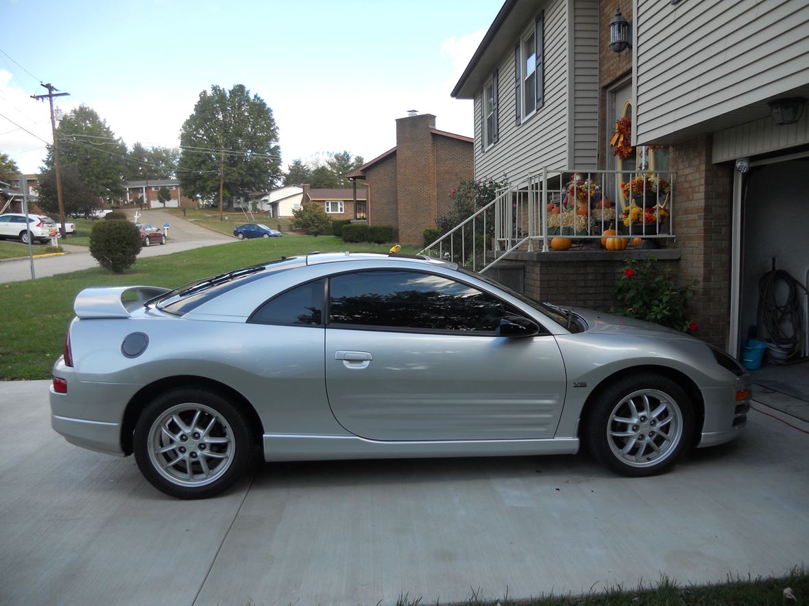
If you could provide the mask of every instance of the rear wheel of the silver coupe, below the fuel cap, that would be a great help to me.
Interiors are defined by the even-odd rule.
[[[172,389],[143,410],[133,451],[143,476],[178,499],[227,490],[248,469],[255,446],[247,421],[222,395]]]

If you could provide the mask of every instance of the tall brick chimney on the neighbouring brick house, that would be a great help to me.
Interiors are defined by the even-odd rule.
[[[396,200],[399,241],[421,243],[426,217],[435,217],[435,146],[430,128],[435,116],[421,114],[396,120]]]

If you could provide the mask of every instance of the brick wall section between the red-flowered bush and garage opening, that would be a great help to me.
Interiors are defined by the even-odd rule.
[[[680,281],[699,280],[693,306],[697,335],[725,347],[730,326],[731,207],[733,166],[711,162],[713,137],[701,135],[671,146],[676,170],[676,246]]]

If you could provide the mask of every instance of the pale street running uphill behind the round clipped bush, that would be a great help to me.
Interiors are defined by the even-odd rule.
[[[168,242],[164,246],[152,245],[148,248],[142,248],[138,254],[138,259],[146,259],[147,257],[157,257],[159,255],[171,255],[172,253],[181,252],[182,250],[191,250],[193,248],[200,248],[201,246],[213,246],[214,244],[222,244],[224,242],[238,242],[235,238],[227,235],[220,234],[212,229],[205,229],[200,225],[196,225],[191,221],[185,221],[180,217],[174,217],[169,213],[162,213],[157,210],[145,210],[139,219],[142,223],[151,223],[162,227],[165,223],[171,225],[168,232]],[[133,214],[132,211],[127,211],[127,214]],[[19,245],[20,254],[28,255],[28,246]],[[80,269],[89,269],[90,267],[98,267],[98,262],[92,258],[86,246],[71,246],[70,238],[62,243],[62,248],[66,251],[66,255],[58,255],[53,257],[43,257],[41,259],[34,259],[34,274],[37,278],[44,278],[47,276],[56,276],[57,274],[67,273],[69,271],[78,271]],[[34,247],[34,254],[38,252],[37,247]],[[0,263],[0,283],[2,282],[20,282],[23,280],[31,280],[31,260],[19,259],[13,261],[4,261]]]

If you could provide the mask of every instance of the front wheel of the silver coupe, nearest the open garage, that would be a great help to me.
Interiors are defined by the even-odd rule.
[[[670,469],[694,431],[688,394],[668,377],[649,372],[608,385],[585,420],[595,458],[630,478]]]

